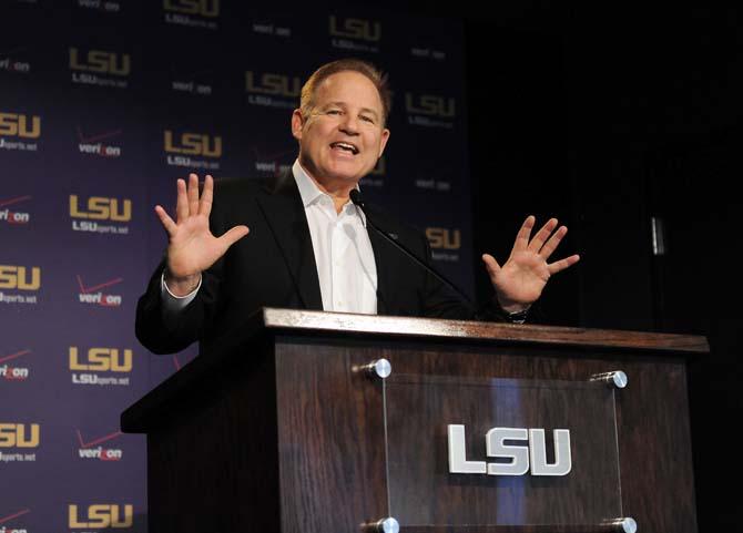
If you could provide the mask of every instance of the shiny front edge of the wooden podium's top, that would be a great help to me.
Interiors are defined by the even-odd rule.
[[[527,324],[478,322],[432,318],[355,315],[348,312],[307,311],[263,308],[248,320],[246,332],[258,329],[275,331],[327,332],[407,337],[410,339],[469,339],[492,342],[537,342],[603,348],[634,348],[706,353],[705,337],[618,329],[564,328]]]

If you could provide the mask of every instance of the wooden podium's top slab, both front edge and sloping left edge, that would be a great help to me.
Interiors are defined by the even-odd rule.
[[[169,416],[167,406],[187,398],[193,387],[212,382],[213,377],[206,377],[214,371],[224,371],[220,369],[224,369],[226,361],[240,359],[233,356],[240,352],[241,347],[252,342],[262,346],[263,340],[287,336],[365,339],[385,344],[394,339],[470,346],[523,345],[553,348],[558,351],[563,348],[598,348],[602,351],[630,351],[632,355],[649,352],[675,358],[709,352],[706,339],[692,335],[263,308],[217,341],[208,357],[196,357],[126,409],[121,417],[122,430],[144,432],[154,427],[154,421]]]

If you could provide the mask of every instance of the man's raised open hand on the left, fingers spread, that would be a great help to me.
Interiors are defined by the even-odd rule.
[[[155,213],[167,232],[167,269],[165,283],[175,296],[185,296],[199,286],[201,273],[214,265],[227,248],[248,233],[247,226],[235,226],[221,237],[215,237],[208,227],[212,212],[214,180],[207,175],[204,191],[199,197],[199,176],[189,175],[189,185],[177,181],[177,203],[175,218],[167,215],[162,206]]]

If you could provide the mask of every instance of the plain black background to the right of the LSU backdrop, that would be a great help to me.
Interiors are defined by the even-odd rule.
[[[741,467],[725,435],[741,413],[743,13],[462,9],[475,249],[501,257],[526,214],[557,216],[570,228],[559,255],[582,258],[548,287],[539,321],[708,337],[710,356],[689,372],[699,525],[737,531],[727,488]],[[664,255],[653,254],[651,217]]]

